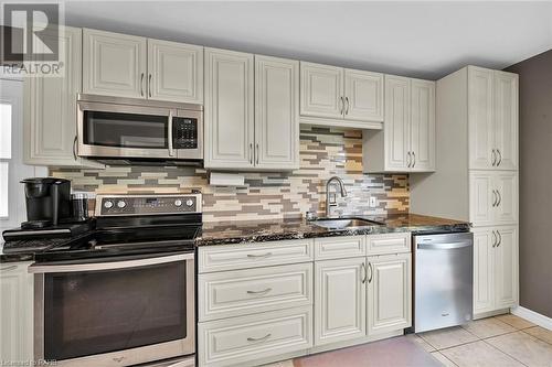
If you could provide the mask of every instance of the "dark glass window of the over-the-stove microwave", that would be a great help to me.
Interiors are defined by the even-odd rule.
[[[168,116],[84,111],[83,138],[89,145],[168,148]]]

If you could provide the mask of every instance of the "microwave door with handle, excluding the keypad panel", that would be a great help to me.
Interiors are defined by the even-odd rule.
[[[78,155],[177,158],[172,118],[177,109],[78,101]]]

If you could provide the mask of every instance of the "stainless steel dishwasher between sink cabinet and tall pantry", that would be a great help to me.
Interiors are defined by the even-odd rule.
[[[415,235],[413,246],[414,332],[470,321],[474,310],[474,235]]]

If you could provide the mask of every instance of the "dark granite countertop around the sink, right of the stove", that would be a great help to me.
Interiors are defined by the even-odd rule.
[[[201,235],[195,239],[195,245],[244,244],[314,237],[374,235],[396,231],[412,231],[417,234],[450,233],[467,231],[470,227],[467,222],[417,214],[354,217],[375,220],[383,224],[350,229],[327,229],[316,226],[311,222],[306,222],[302,218],[204,223]]]

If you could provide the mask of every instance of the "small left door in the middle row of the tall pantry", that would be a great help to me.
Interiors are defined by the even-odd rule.
[[[495,220],[498,195],[492,171],[469,173],[469,222],[475,226],[488,226]]]

